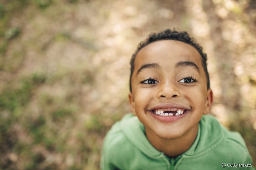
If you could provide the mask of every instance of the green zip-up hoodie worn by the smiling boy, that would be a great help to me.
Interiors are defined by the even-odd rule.
[[[144,125],[132,114],[116,122],[104,139],[101,170],[116,169],[254,170],[241,135],[228,131],[213,116],[201,118],[196,139],[187,151],[169,158],[150,144]]]

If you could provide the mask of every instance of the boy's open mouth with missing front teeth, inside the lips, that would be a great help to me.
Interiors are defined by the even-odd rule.
[[[150,112],[159,116],[180,116],[185,114],[188,110],[182,108],[165,108],[165,109],[155,109],[150,110]]]

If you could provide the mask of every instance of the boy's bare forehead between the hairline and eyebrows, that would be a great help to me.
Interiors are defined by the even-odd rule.
[[[191,45],[176,40],[160,40],[143,47],[135,58],[135,69],[147,63],[173,66],[180,61],[194,62],[202,67],[201,55]]]

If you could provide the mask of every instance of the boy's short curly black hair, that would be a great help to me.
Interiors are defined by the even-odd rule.
[[[196,40],[194,38],[190,38],[190,36],[187,32],[178,32],[175,30],[171,31],[170,29],[167,29],[167,30],[161,31],[159,33],[151,33],[145,41],[140,42],[137,50],[132,55],[132,58],[130,60],[130,65],[131,65],[130,92],[132,92],[131,77],[132,77],[132,74],[134,71],[134,61],[135,61],[136,55],[143,47],[145,47],[155,41],[160,41],[160,40],[177,40],[177,41],[181,41],[181,42],[187,43],[189,45],[192,45],[199,52],[199,54],[202,57],[202,65],[203,65],[204,72],[205,72],[206,79],[207,79],[207,89],[210,88],[209,73],[207,71],[207,64],[206,64],[207,55],[205,53],[203,53],[203,48],[199,44],[196,43]]]

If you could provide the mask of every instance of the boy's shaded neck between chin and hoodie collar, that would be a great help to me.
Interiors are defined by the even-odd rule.
[[[190,148],[193,144],[198,131],[198,125],[187,131],[178,138],[165,139],[156,135],[152,130],[145,128],[149,142],[160,152],[170,158],[175,158]]]

